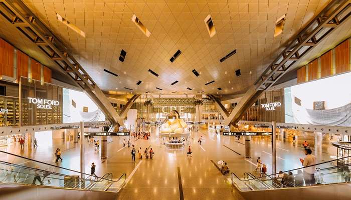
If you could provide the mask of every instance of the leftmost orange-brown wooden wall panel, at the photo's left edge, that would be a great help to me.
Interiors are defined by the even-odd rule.
[[[0,38],[0,75],[14,77],[14,47]]]

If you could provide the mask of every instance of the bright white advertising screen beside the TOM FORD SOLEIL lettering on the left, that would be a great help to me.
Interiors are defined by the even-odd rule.
[[[63,89],[63,123],[104,120],[104,113],[86,93]]]

